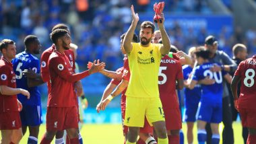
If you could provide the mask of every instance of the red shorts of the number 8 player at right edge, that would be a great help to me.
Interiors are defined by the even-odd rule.
[[[256,110],[239,108],[243,127],[256,129]]]

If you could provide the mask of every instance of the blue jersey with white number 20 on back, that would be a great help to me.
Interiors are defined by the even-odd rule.
[[[222,102],[222,92],[223,92],[223,77],[227,73],[225,71],[212,72],[210,68],[213,67],[214,63],[203,63],[195,68],[193,72],[192,79],[199,81],[205,77],[210,77],[214,79],[215,83],[212,85],[201,85],[202,95],[201,100],[214,100],[212,102]],[[206,98],[206,99],[205,99]]]

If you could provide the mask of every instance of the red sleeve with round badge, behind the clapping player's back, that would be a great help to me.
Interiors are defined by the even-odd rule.
[[[46,53],[42,53],[40,71],[41,71],[42,81],[44,82],[50,81],[49,69],[47,65],[48,59],[49,59],[49,55],[47,55]]]

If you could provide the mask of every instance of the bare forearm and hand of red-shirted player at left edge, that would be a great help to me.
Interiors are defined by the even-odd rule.
[[[16,94],[22,94],[30,98],[30,93],[26,89],[8,87],[7,85],[0,85],[0,92],[5,96],[13,96]]]

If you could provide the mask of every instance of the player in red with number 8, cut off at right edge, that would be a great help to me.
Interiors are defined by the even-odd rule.
[[[247,127],[248,144],[256,143],[256,55],[242,61],[234,73],[231,90],[234,97],[234,107],[241,115],[243,127]],[[237,84],[241,81],[241,94],[237,96]]]

